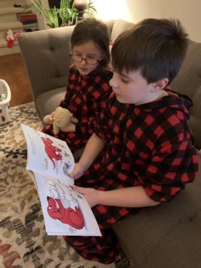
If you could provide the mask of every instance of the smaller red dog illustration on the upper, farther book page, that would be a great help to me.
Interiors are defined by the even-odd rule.
[[[58,161],[62,159],[61,154],[56,154],[56,152],[61,152],[61,149],[57,148],[56,146],[52,145],[53,141],[50,139],[45,139],[41,137],[43,143],[45,144],[45,152],[48,155],[49,159],[53,162],[54,169],[55,169],[55,161],[53,158]]]

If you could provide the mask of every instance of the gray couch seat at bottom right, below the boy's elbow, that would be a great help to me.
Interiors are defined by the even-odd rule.
[[[171,202],[112,225],[134,268],[201,267],[200,178],[201,170]]]

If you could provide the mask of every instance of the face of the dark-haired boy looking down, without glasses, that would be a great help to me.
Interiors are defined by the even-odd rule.
[[[140,71],[128,73],[125,69],[122,73],[114,71],[110,86],[120,103],[140,105],[153,101],[155,97],[153,94],[154,84],[147,84]]]

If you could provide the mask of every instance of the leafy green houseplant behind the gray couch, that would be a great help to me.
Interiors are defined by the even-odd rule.
[[[31,0],[32,3],[25,8],[25,12],[28,10],[39,11],[47,20],[45,22],[51,28],[57,28],[64,24],[73,25],[77,22],[78,10],[73,5],[73,0],[60,0],[60,8],[43,8],[40,0]],[[95,7],[91,0],[86,8],[86,16],[93,17],[96,12]]]

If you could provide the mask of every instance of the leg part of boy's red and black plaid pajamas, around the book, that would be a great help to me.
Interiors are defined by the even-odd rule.
[[[124,181],[109,179],[100,169],[96,170],[98,168],[99,164],[91,166],[90,174],[87,171],[83,177],[75,180],[75,185],[92,187],[101,191],[128,187]],[[83,258],[110,264],[118,260],[121,251],[120,243],[110,225],[138,213],[139,210],[141,208],[94,206],[92,212],[98,222],[102,236],[64,236],[64,240]]]

